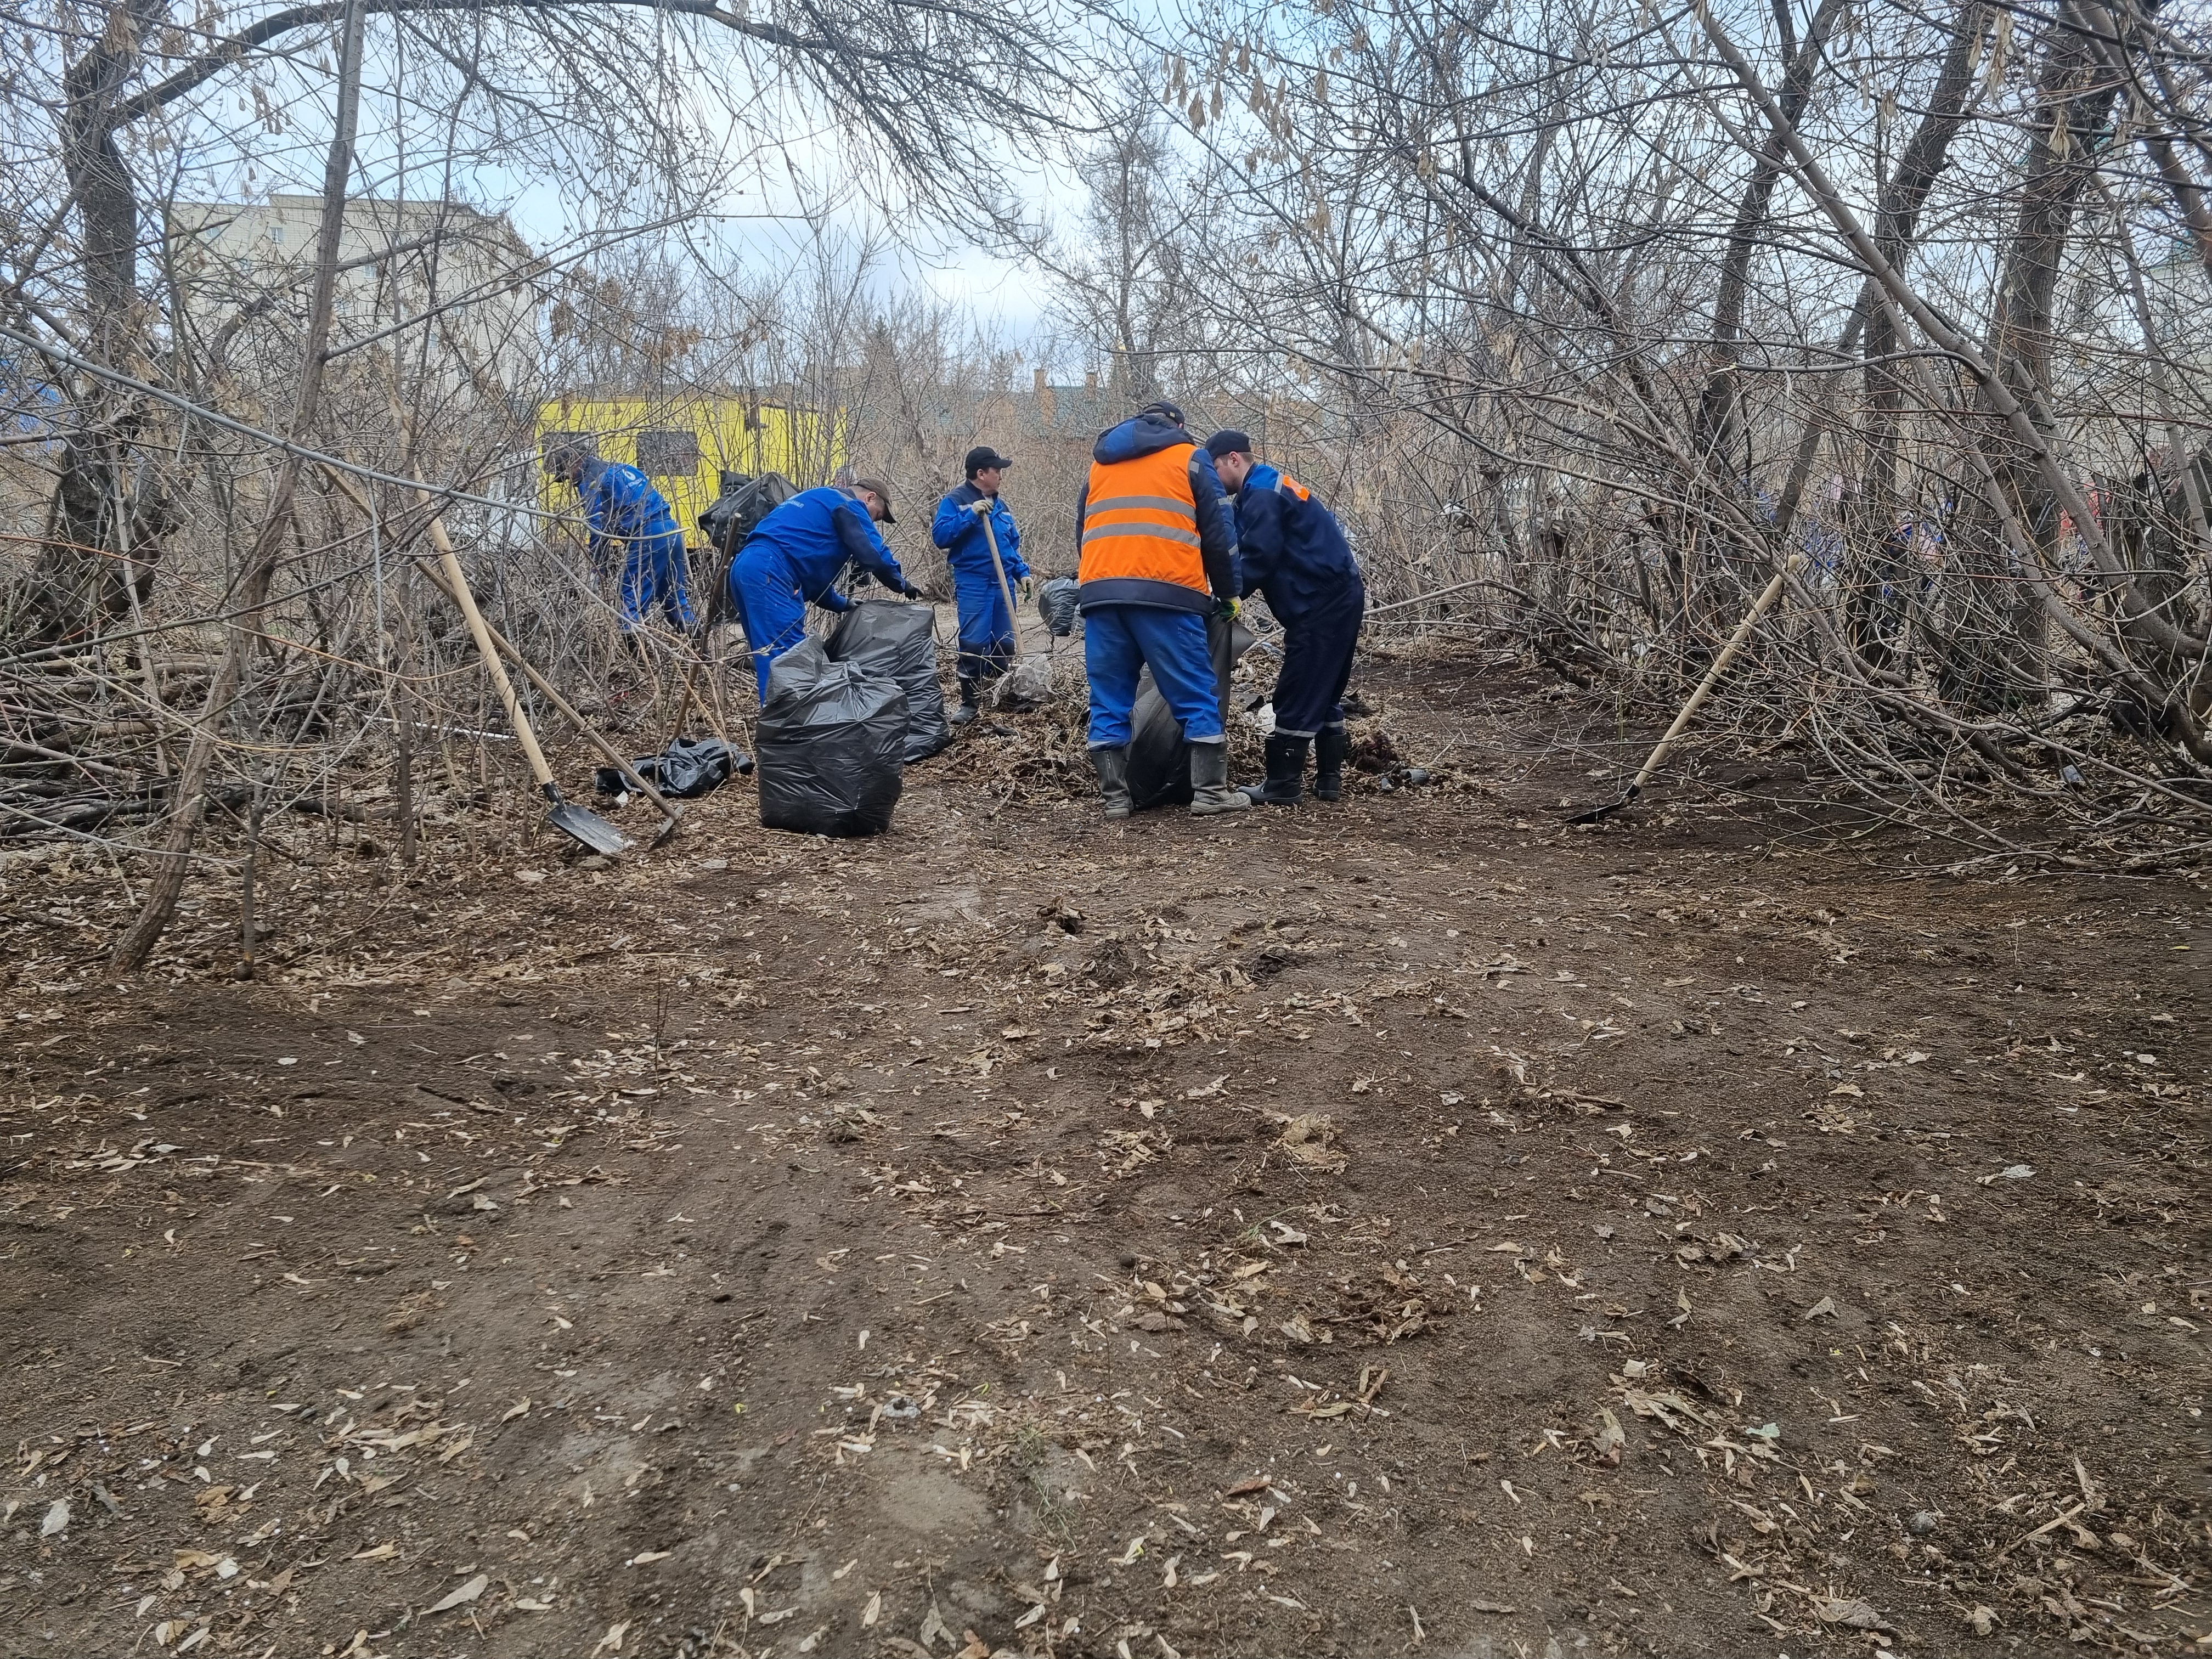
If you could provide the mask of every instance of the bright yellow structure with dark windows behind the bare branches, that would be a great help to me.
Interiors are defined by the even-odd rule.
[[[721,476],[783,473],[801,489],[845,465],[843,416],[730,396],[553,398],[538,407],[538,456],[588,438],[602,460],[637,467],[668,498],[688,546],[706,546],[699,513],[721,495]],[[575,491],[540,467],[549,513],[573,513]]]

